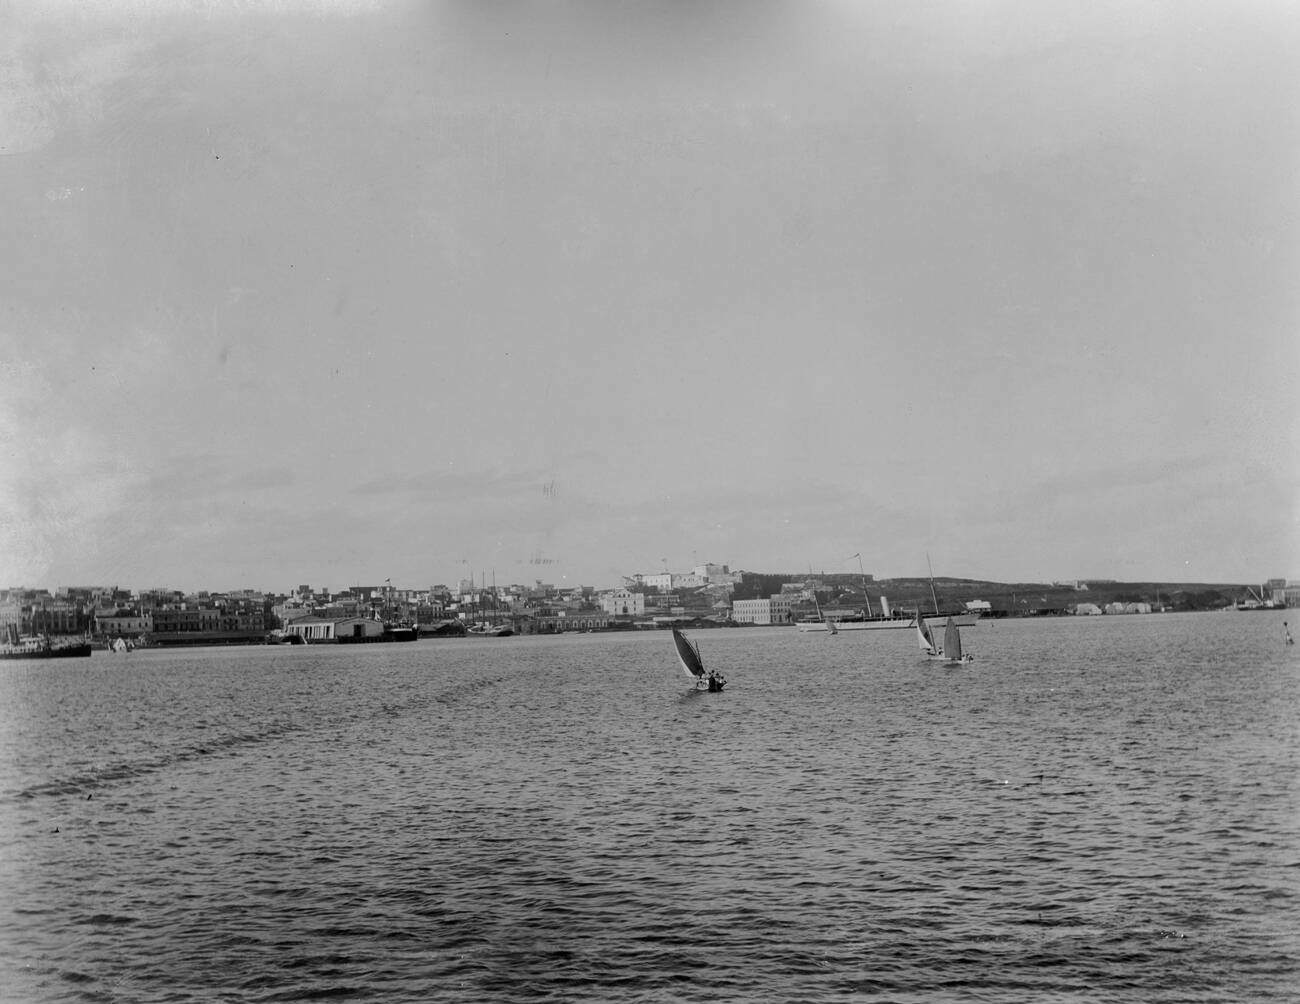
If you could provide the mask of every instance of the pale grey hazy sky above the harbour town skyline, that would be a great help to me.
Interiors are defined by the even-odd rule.
[[[1300,577],[1297,42],[8,4],[0,587]]]

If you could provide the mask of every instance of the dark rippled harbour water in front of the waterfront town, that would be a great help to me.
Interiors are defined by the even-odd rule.
[[[0,997],[1297,999],[1280,622],[0,663]]]

